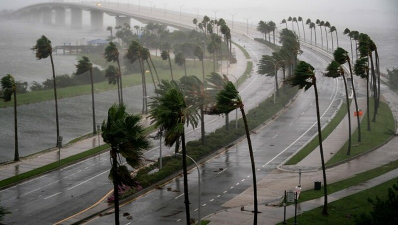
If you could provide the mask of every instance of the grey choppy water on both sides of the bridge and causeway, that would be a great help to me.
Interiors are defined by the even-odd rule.
[[[263,2],[263,1],[261,1]],[[223,17],[227,22],[231,18],[230,13],[238,13],[235,15],[236,22],[245,22],[243,17],[250,16],[249,26],[256,26],[261,20],[274,20],[279,29],[284,28],[285,24],[279,24],[282,18],[289,16],[302,16],[304,20],[311,18],[316,20],[320,18],[329,21],[335,25],[338,30],[339,44],[348,52],[351,52],[350,40],[347,36],[342,35],[342,31],[348,27],[351,30],[367,33],[375,41],[380,54],[380,62],[382,72],[386,68],[398,67],[398,15],[397,9],[391,7],[386,13],[379,8],[372,10],[364,10],[363,8],[346,7],[341,11],[326,9],[314,10],[311,8],[305,11],[298,11],[292,7],[276,7],[270,4],[265,7],[264,4],[236,8],[212,8],[211,5],[201,7],[199,16],[207,14],[210,17],[214,15],[214,10],[218,10],[217,18]],[[275,6],[275,8],[273,8]],[[170,6],[171,7],[171,6]],[[340,7],[340,6],[339,6]],[[169,8],[168,8],[169,9]],[[172,9],[172,8],[170,8]],[[180,8],[178,8],[179,10]],[[193,7],[186,6],[183,10],[196,14],[197,10]],[[175,9],[177,11],[177,9]],[[190,15],[191,16],[191,15]],[[93,32],[89,29],[89,14],[83,14],[82,30],[73,30],[67,27],[57,29],[54,26],[44,26],[38,24],[28,24],[18,21],[0,20],[0,77],[6,74],[12,74],[16,80],[27,81],[31,84],[33,81],[43,82],[52,77],[50,59],[36,60],[35,55],[30,50],[41,35],[46,35],[53,46],[63,45],[64,42],[71,44],[81,44],[86,41],[102,38],[105,39],[109,32],[105,30],[108,25],[114,26],[114,19],[104,15],[104,29],[102,31]],[[70,18],[66,19],[67,23]],[[136,22],[132,20],[131,26]],[[67,24],[68,25],[68,24]],[[138,24],[141,25],[141,24]],[[295,30],[297,30],[297,25]],[[288,27],[292,24],[289,22]],[[306,39],[309,40],[309,29],[304,24]],[[299,24],[302,35],[302,27]],[[320,31],[317,27],[317,40],[320,43]],[[323,30],[324,32],[324,30]],[[323,34],[325,35],[325,34]],[[334,41],[335,35],[333,36]],[[329,48],[331,48],[331,38],[328,33]],[[335,42],[336,43],[336,42]],[[324,37],[324,45],[326,46],[326,38]],[[335,44],[336,46],[336,44]],[[76,70],[74,64],[77,63],[76,56],[54,55],[54,64],[56,74],[71,74]],[[152,87],[149,87],[152,88]],[[141,107],[140,87],[128,88],[123,90],[124,99],[129,107],[130,112],[139,112]],[[117,99],[116,92],[106,92],[96,94],[96,115],[99,124],[106,116],[106,111],[111,104]],[[37,104],[30,104],[18,107],[18,134],[20,155],[29,155],[37,151],[53,147],[55,145],[55,109],[54,101],[48,101]],[[60,113],[60,135],[64,137],[64,143],[85,133],[92,131],[92,112],[91,112],[91,96],[81,96],[70,99],[59,100]],[[0,109],[0,162],[12,160],[13,158],[13,109]],[[40,135],[38,135],[40,134]]]

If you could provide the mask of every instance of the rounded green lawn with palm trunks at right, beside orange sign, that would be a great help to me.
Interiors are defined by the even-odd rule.
[[[370,112],[371,113],[371,131],[367,130],[368,120],[367,114],[362,119],[361,122],[361,142],[358,142],[358,129],[352,134],[352,146],[351,146],[351,154],[347,156],[347,148],[348,148],[348,140],[344,144],[344,146],[329,160],[326,162],[326,165],[332,165],[343,160],[347,160],[356,155],[362,154],[368,150],[371,150],[384,142],[386,142],[389,138],[394,135],[395,130],[395,119],[393,113],[391,112],[390,107],[384,103],[380,102],[378,114],[376,117],[376,122],[372,122],[373,117],[373,99],[370,101]]]

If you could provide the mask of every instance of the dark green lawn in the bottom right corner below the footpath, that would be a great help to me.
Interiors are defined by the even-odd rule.
[[[392,179],[376,187],[331,202],[328,204],[328,216],[321,214],[323,207],[304,212],[298,215],[297,223],[302,225],[355,225],[355,217],[372,210],[372,205],[368,202],[368,198],[375,199],[376,196],[382,199],[386,198],[388,189],[396,182],[397,179]],[[287,222],[288,224],[293,224],[294,218],[287,220]],[[279,223],[279,225],[281,224]]]

